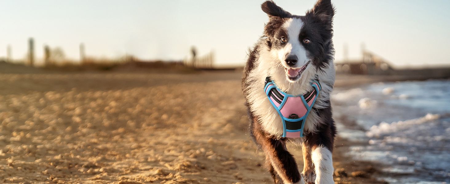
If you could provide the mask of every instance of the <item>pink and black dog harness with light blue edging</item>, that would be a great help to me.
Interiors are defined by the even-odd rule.
[[[320,92],[319,79],[313,79],[311,86],[314,88],[303,95],[293,96],[277,88],[275,82],[266,78],[264,91],[270,103],[278,111],[283,123],[283,137],[297,138],[303,137],[303,127],[306,117],[310,113],[312,106]]]

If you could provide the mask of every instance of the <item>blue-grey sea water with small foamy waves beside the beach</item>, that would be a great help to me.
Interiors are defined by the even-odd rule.
[[[385,165],[381,179],[450,184],[450,80],[374,83],[337,89],[331,99],[339,135],[366,143],[348,154]]]

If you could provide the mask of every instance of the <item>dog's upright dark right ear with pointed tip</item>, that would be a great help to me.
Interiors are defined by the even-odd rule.
[[[319,18],[321,21],[329,23],[330,25],[333,22],[335,10],[333,4],[331,4],[331,0],[318,0],[314,5],[314,8],[306,13],[306,15],[310,14],[315,18]]]

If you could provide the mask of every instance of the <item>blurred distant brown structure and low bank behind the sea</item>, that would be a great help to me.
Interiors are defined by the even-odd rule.
[[[423,67],[414,69],[397,69],[384,58],[365,49],[361,44],[362,57],[360,59],[348,59],[347,45],[344,45],[344,59],[336,61],[336,73],[338,74],[364,74],[364,75],[403,75],[418,78],[450,78],[450,66]]]

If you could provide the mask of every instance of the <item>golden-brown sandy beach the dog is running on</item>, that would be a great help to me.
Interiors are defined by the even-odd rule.
[[[273,183],[239,71],[0,74],[0,123],[0,183]],[[366,174],[336,183],[379,183],[365,178],[375,165],[344,156],[347,143],[335,168]],[[302,168],[301,148],[289,149]]]

